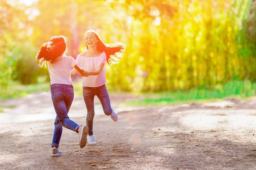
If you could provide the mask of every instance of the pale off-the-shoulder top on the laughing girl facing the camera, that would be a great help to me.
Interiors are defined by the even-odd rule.
[[[84,70],[95,69],[100,66],[102,63],[107,62],[106,53],[103,51],[101,55],[97,57],[83,57],[77,55],[76,61],[78,65]],[[106,68],[103,66],[99,75],[89,75],[88,77],[83,77],[82,79],[83,86],[86,87],[99,87],[103,84],[106,84]]]

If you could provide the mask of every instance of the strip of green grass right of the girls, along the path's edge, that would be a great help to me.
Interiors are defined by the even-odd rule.
[[[184,104],[190,102],[205,102],[217,99],[246,98],[256,95],[256,83],[249,81],[231,80],[215,88],[198,87],[191,90],[166,91],[160,93],[144,93],[144,99],[126,102],[131,106],[152,106]]]

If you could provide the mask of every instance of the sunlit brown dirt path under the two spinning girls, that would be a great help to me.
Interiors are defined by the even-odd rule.
[[[254,99],[123,108],[119,102],[135,97],[110,98],[119,120],[97,105],[97,145],[79,148],[78,135],[64,128],[60,157],[50,156],[49,93],[0,102],[0,170],[256,170]],[[85,113],[83,99],[75,97],[70,117],[85,124]]]

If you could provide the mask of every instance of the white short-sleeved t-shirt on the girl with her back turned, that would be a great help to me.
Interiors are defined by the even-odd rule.
[[[73,57],[62,57],[54,63],[47,61],[50,84],[72,84],[71,68],[77,64]]]

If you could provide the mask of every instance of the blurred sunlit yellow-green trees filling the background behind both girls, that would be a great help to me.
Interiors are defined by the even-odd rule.
[[[255,96],[255,15],[256,0],[0,0],[1,100],[49,89],[41,44],[65,35],[76,58],[88,29],[126,44],[107,66],[111,91]]]

